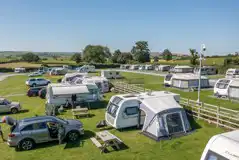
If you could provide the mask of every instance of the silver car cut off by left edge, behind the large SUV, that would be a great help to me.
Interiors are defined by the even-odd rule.
[[[11,102],[5,98],[0,98],[0,113],[11,112],[13,114],[21,110],[19,102]]]

